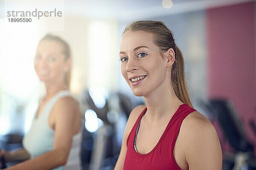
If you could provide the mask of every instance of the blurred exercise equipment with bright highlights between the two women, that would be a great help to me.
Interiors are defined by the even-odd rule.
[[[117,137],[122,138],[131,110],[140,103],[133,105],[124,94],[95,89],[84,92],[83,103],[87,105],[81,153],[83,170],[113,170],[121,149]],[[119,134],[118,124],[122,116],[126,120],[122,123],[122,134]]]

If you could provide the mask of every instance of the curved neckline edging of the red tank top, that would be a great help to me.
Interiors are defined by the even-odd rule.
[[[154,152],[154,150],[157,149],[157,147],[160,145],[161,141],[163,140],[164,136],[166,135],[171,123],[173,122],[173,120],[175,119],[175,117],[177,116],[177,113],[180,111],[180,109],[187,105],[186,103],[183,103],[182,105],[179,106],[179,108],[177,109],[177,111],[175,111],[175,113],[173,114],[172,118],[169,120],[165,130],[163,131],[163,134],[161,135],[160,139],[158,140],[157,144],[153,147],[153,149],[148,152],[148,153],[145,153],[145,154],[142,154],[142,153],[139,153],[137,152],[137,149],[136,149],[136,138],[137,138],[137,133],[139,131],[139,128],[140,128],[140,121],[142,119],[142,117],[145,115],[146,111],[147,111],[147,107],[145,107],[145,109],[143,110],[143,112],[140,114],[139,116],[139,122],[138,122],[138,125],[136,127],[136,131],[135,131],[135,135],[134,135],[134,147],[133,147],[133,152],[137,155],[137,156],[140,156],[140,157],[145,157],[145,156],[148,156],[150,155],[151,153]]]

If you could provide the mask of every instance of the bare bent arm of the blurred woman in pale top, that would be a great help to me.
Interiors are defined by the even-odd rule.
[[[64,97],[56,103],[51,114],[55,115],[53,150],[9,167],[7,170],[51,170],[66,164],[73,135],[77,132],[77,126],[80,127],[80,124],[77,124],[77,116],[80,119],[79,108],[74,99]]]

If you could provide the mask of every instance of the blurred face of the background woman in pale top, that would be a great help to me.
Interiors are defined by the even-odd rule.
[[[63,81],[69,70],[69,59],[65,59],[63,46],[54,40],[42,40],[35,55],[35,71],[44,82]]]

